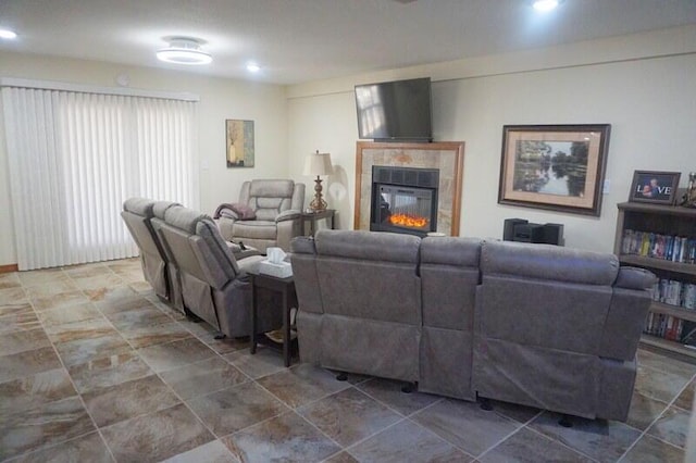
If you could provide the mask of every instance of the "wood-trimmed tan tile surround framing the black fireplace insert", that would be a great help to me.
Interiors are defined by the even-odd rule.
[[[459,236],[464,142],[391,143],[358,141],[356,145],[355,229],[370,229],[372,166],[387,165],[439,170],[437,232]]]

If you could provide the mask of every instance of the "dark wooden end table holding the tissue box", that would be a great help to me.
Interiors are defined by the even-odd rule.
[[[290,366],[290,309],[297,306],[297,293],[295,292],[295,280],[291,276],[287,278],[277,278],[271,275],[263,275],[260,273],[249,273],[251,277],[251,347],[250,352],[253,354],[257,352],[257,343],[259,342],[259,335],[257,333],[257,321],[259,317],[258,310],[258,290],[266,289],[270,291],[279,292],[283,297],[283,303],[279,308],[283,311],[283,360],[285,366]]]

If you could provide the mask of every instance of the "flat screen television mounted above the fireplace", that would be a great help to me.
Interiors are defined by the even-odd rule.
[[[375,141],[432,141],[430,77],[356,86],[358,134]]]

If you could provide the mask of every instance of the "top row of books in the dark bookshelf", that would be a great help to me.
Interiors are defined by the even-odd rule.
[[[696,238],[625,229],[621,253],[693,264],[696,263]]]

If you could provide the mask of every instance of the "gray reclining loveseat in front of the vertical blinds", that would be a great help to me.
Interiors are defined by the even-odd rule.
[[[213,220],[181,204],[130,198],[122,216],[140,248],[146,279],[173,306],[222,335],[249,336],[251,283],[263,260],[256,250],[225,241]],[[259,295],[260,331],[283,326],[278,296]]]

